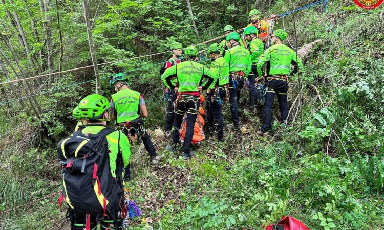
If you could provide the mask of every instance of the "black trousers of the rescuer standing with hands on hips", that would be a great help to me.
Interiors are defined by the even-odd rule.
[[[194,136],[195,122],[199,112],[199,97],[191,95],[181,95],[175,107],[174,129],[172,132],[172,142],[174,145],[180,141],[180,127],[183,122],[184,114],[187,114],[187,127],[184,135],[183,152],[190,153],[190,145]]]

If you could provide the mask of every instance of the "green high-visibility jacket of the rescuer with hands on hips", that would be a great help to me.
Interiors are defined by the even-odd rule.
[[[177,78],[179,84],[178,93],[198,92],[197,87],[201,86],[203,78],[208,78],[207,83],[203,86],[203,90],[205,90],[217,78],[216,74],[209,68],[192,60],[183,61],[167,68],[161,79],[165,85],[174,89],[175,86],[170,80],[173,77]]]

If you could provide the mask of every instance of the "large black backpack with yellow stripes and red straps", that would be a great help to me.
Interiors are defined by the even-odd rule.
[[[57,155],[62,167],[62,198],[79,215],[103,213],[105,216],[107,211],[115,213],[114,205],[123,188],[123,169],[119,152],[116,181],[111,173],[110,151],[106,140],[106,135],[114,131],[105,127],[97,134],[83,134],[80,130],[57,144]],[[120,151],[120,146],[118,149]]]

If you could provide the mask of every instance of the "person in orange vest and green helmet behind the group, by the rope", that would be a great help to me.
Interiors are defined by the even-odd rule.
[[[249,11],[249,20],[251,21],[250,24],[247,25],[249,26],[255,26],[258,29],[258,37],[263,43],[266,43],[268,40],[268,33],[270,30],[270,24],[268,23],[268,20],[274,20],[276,21],[278,19],[278,15],[272,14],[270,18],[267,19],[260,19],[261,18],[261,12],[257,9],[253,9]],[[245,38],[242,39],[245,47],[247,47],[247,41]]]

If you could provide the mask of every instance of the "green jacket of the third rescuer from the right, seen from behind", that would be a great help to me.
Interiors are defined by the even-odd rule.
[[[229,64],[229,72],[242,71],[248,76],[252,67],[251,54],[247,49],[236,45],[225,52],[224,59]]]

